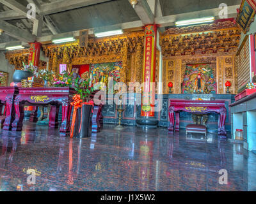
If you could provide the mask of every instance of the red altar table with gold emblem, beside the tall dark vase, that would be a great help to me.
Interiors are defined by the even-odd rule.
[[[62,105],[62,123],[60,135],[66,136],[70,132],[70,115],[72,97],[77,92],[70,87],[36,87],[19,88],[19,94],[15,98],[15,120],[12,123],[12,131],[21,131],[24,119],[24,105],[38,106],[51,105],[49,127],[58,127],[58,110]]]

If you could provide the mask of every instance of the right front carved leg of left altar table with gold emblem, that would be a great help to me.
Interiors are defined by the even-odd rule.
[[[60,135],[67,136],[70,133],[70,115],[72,106],[69,103],[69,99],[65,98],[61,100],[62,103],[62,123],[60,128]]]

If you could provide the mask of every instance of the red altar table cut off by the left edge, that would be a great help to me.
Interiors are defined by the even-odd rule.
[[[18,87],[0,87],[0,115],[1,124],[3,124],[4,130],[12,129],[12,122],[15,117],[15,111],[13,101],[15,96],[19,93]],[[2,115],[3,105],[6,106],[6,115]]]

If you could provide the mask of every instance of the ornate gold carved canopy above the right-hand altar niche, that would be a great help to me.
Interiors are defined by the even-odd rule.
[[[236,52],[239,46],[240,29],[234,24],[232,27],[225,27],[226,29],[222,29],[219,25],[228,25],[228,23],[169,29],[161,36],[164,57]],[[209,32],[198,33],[205,31]]]

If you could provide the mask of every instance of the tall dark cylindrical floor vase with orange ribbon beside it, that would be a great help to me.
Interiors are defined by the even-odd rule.
[[[92,105],[82,105],[82,110],[79,111],[79,128],[81,124],[80,133],[78,133],[78,138],[88,138],[89,137],[89,129],[90,129],[90,119],[92,113]],[[81,117],[82,113],[82,117]],[[82,120],[82,122],[81,122]]]

